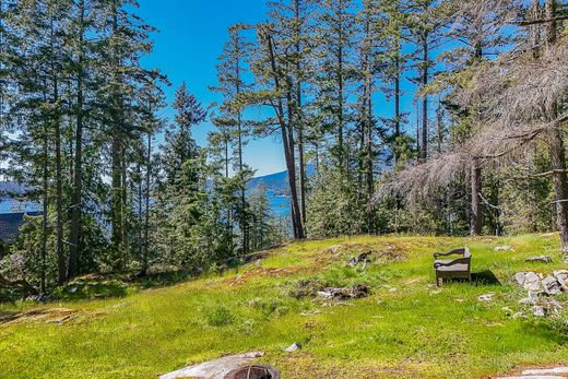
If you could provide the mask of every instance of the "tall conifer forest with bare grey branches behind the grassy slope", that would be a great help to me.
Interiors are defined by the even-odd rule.
[[[226,32],[222,102],[184,83],[166,104],[135,0],[0,0],[1,176],[40,204],[0,260],[2,293],[223,270],[334,236],[559,230],[568,254],[563,1],[267,7]],[[247,187],[263,138],[284,152],[286,217]]]

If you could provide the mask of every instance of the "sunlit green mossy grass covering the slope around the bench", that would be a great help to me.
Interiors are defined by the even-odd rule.
[[[478,280],[436,291],[431,253],[463,245]],[[514,251],[494,251],[499,245]],[[403,259],[346,267],[366,247]],[[78,292],[95,299],[78,294],[39,308],[0,305],[0,317],[12,317],[0,321],[0,377],[155,378],[249,351],[264,352],[262,362],[283,378],[482,378],[568,364],[567,295],[558,297],[561,319],[513,320],[502,310],[523,310],[512,274],[564,268],[557,251],[556,236],[357,237],[292,244],[237,270],[161,288],[116,279],[85,284]],[[555,262],[524,262],[535,254]],[[299,281],[364,283],[372,295],[348,303],[291,296]],[[478,301],[486,293],[495,299]],[[71,317],[46,322],[60,318],[58,308]],[[303,348],[284,353],[294,342]]]

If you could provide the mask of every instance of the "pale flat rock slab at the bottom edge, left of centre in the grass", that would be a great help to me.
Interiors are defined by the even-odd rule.
[[[180,370],[162,375],[159,379],[176,378],[206,378],[224,379],[230,371],[250,365],[257,358],[264,355],[261,352],[230,355],[223,358],[205,362]]]

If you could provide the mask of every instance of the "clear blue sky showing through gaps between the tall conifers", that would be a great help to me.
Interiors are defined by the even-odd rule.
[[[206,107],[220,100],[209,91],[216,83],[217,57],[227,37],[227,28],[238,22],[255,23],[265,20],[265,0],[139,0],[137,13],[159,32],[153,36],[154,52],[144,58],[147,68],[158,68],[171,82],[166,88],[167,102],[171,104],[174,92],[182,81]],[[405,85],[405,90],[411,90]],[[392,104],[386,104],[381,95],[375,98],[378,115],[390,114]],[[412,93],[403,98],[403,109],[414,114]],[[162,116],[170,117],[171,109]],[[415,125],[410,117],[410,128]],[[194,130],[196,139],[205,144],[208,132],[213,127],[205,122]],[[245,161],[257,175],[267,175],[285,169],[284,153],[275,138],[253,140],[245,150]]]

